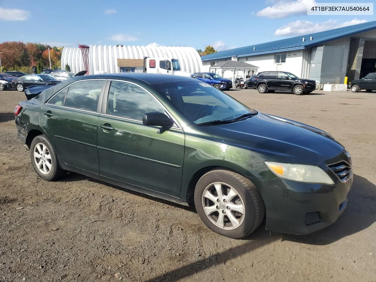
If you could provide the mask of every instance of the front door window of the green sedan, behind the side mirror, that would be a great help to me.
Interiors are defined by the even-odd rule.
[[[144,114],[148,112],[164,113],[164,109],[148,92],[139,86],[120,81],[111,82],[107,114],[142,120]]]

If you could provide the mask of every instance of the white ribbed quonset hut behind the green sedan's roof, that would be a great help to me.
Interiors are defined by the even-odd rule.
[[[122,46],[122,45],[80,45],[64,47],[61,55],[61,69],[68,64],[73,73],[88,70],[89,74],[100,72],[118,73],[118,59],[143,59],[144,57],[179,59],[182,71],[202,71],[199,53],[193,47],[167,46]]]

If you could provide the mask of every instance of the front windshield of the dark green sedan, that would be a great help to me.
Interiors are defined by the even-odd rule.
[[[230,121],[256,111],[205,82],[170,82],[156,88],[193,123]]]

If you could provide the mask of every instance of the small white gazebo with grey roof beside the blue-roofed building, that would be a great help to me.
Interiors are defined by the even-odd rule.
[[[232,71],[232,82],[234,82],[235,77],[238,76],[239,71],[243,73],[243,78],[245,79],[247,75],[252,76],[254,73],[257,73],[258,67],[243,61],[238,61],[237,57],[233,57],[231,60],[221,62],[210,67],[209,70],[220,74],[222,77],[224,77],[225,71]]]

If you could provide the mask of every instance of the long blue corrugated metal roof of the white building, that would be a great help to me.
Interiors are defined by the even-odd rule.
[[[269,53],[277,53],[281,51],[293,51],[304,49],[306,47],[319,44],[321,42],[349,36],[354,33],[364,32],[367,30],[375,29],[376,21],[370,21],[368,23],[355,24],[353,26],[340,27],[338,29],[331,29],[321,31],[317,33],[300,35],[296,37],[281,39],[277,41],[271,41],[261,44],[250,45],[246,47],[240,47],[221,51],[209,55],[202,56],[202,61],[210,61],[216,59],[230,58],[232,56],[245,57],[255,56]],[[312,40],[310,40],[312,36]],[[303,38],[305,41],[303,41]],[[255,49],[255,50],[254,50]]]

